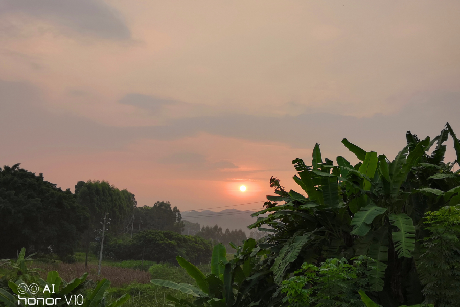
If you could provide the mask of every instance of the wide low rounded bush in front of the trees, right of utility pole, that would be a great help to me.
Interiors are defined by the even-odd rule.
[[[159,230],[141,231],[132,240],[112,237],[104,242],[104,254],[120,260],[144,259],[175,263],[175,257],[180,255],[199,264],[211,259],[211,249],[209,240],[201,237]]]

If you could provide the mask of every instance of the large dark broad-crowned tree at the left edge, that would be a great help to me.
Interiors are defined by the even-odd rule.
[[[62,191],[15,164],[0,169],[0,256],[30,251],[73,253],[88,214],[69,191]]]

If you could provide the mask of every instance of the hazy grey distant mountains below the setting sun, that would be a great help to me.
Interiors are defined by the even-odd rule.
[[[203,226],[219,225],[222,230],[241,229],[249,235],[248,225],[257,221],[256,217],[251,217],[252,212],[244,212],[237,209],[225,209],[220,212],[210,210],[181,212],[182,219],[192,223],[199,223]],[[193,218],[192,218],[193,217]]]

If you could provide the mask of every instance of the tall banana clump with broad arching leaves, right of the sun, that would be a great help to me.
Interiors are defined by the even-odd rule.
[[[417,240],[426,235],[422,218],[427,211],[460,203],[460,174],[452,171],[454,163],[444,163],[449,135],[458,163],[460,143],[448,123],[433,139],[420,140],[407,131],[407,145],[392,161],[347,139],[342,143],[360,161],[355,165],[342,156],[336,165],[323,160],[319,144],[311,165],[293,160],[293,180],[303,191],[286,191],[272,178],[277,195],[267,196],[266,208],[252,216],[269,214],[248,226],[270,233],[258,246],[270,252],[265,261],[271,261],[274,283],[281,284],[303,262],[366,255],[374,259],[371,287],[382,302],[420,303],[415,263]],[[277,296],[278,291],[273,299]]]

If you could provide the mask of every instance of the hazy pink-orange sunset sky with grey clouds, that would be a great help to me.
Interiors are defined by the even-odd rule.
[[[182,211],[263,201],[271,176],[300,191],[291,161],[315,143],[357,162],[342,138],[394,157],[407,130],[460,133],[458,16],[457,0],[0,0],[0,165]]]

